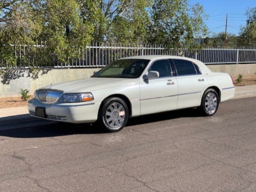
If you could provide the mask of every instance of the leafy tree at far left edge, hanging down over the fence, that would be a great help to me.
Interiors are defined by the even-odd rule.
[[[32,0],[0,1],[0,66],[16,66],[16,45],[34,44],[41,30],[41,17]]]

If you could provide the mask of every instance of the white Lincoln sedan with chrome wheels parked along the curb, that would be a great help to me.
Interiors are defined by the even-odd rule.
[[[39,88],[28,101],[30,115],[69,123],[97,123],[120,131],[131,117],[197,107],[216,113],[235,94],[232,77],[199,60],[135,56],[115,60],[86,79]]]

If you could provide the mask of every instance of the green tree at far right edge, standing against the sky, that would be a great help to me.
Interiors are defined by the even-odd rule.
[[[238,45],[256,46],[256,7],[248,8],[245,15],[247,22],[240,28]]]

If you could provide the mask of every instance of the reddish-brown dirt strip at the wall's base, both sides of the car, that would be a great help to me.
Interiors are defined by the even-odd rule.
[[[256,85],[256,77],[250,79],[242,79],[242,82],[237,83],[234,79],[235,86],[252,86]],[[23,101],[21,97],[0,98],[0,108],[10,108],[18,106],[27,106],[27,101]]]

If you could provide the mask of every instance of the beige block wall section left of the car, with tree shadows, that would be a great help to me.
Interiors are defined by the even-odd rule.
[[[20,88],[28,89],[30,95],[37,88],[62,81],[87,78],[100,68],[83,69],[44,69],[36,77],[27,70],[11,70],[4,77],[0,77],[0,98],[21,96]]]

